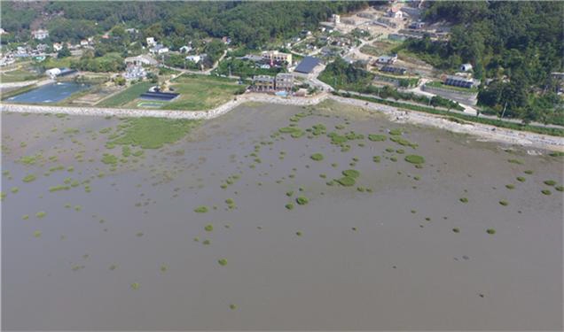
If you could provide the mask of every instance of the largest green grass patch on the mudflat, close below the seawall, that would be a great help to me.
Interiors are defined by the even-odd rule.
[[[126,125],[121,127],[121,136],[111,143],[143,149],[159,149],[164,144],[175,143],[200,124],[200,120],[162,118],[132,118],[126,121]]]

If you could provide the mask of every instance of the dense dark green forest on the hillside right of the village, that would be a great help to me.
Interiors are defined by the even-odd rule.
[[[434,2],[423,19],[452,24],[450,40],[412,39],[403,48],[447,71],[473,64],[479,104],[490,112],[564,124],[551,76],[564,67],[564,3]]]

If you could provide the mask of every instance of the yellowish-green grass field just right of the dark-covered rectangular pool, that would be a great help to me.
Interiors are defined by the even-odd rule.
[[[244,86],[237,81],[206,75],[184,74],[172,81],[171,86],[180,96],[163,109],[199,111],[208,110],[223,104]]]

